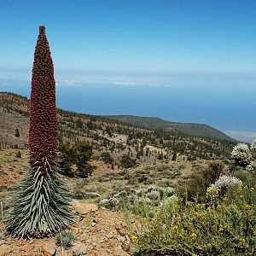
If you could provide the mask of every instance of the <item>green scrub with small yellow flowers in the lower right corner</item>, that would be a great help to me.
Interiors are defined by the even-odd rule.
[[[183,193],[158,207],[134,204],[128,210],[136,219],[131,240],[137,255],[255,255],[255,190],[239,183],[204,203]]]

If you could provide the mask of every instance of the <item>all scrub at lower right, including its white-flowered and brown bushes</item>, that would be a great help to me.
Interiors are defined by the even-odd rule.
[[[230,173],[215,163],[190,178],[190,195],[187,189],[177,189],[170,197],[155,196],[150,204],[143,193],[143,204],[137,200],[126,207],[137,256],[255,255],[256,177],[247,168],[255,155],[253,147],[242,154],[236,151]],[[246,154],[250,161],[241,164],[236,156],[247,160]],[[191,196],[196,189],[197,196]]]

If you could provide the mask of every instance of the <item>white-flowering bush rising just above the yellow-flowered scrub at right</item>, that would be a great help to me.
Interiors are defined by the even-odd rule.
[[[224,191],[230,187],[241,187],[242,182],[237,177],[221,176],[215,183],[212,183],[207,188],[207,197],[211,200],[215,200],[224,194]]]

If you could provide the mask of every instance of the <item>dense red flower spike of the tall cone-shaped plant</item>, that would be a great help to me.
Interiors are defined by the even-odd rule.
[[[54,65],[44,26],[39,26],[34,54],[29,122],[30,164],[40,166],[42,174],[45,174],[45,158],[50,166],[55,166],[57,111]]]

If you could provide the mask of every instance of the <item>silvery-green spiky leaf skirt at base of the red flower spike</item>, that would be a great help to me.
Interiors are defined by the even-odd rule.
[[[47,160],[45,160],[47,165]],[[6,230],[10,235],[30,238],[53,236],[73,222],[70,196],[56,169],[51,175],[30,168],[14,192]]]

